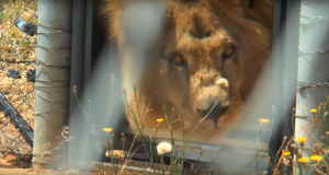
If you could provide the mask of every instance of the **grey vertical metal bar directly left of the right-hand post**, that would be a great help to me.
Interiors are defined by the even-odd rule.
[[[297,66],[298,66],[298,43],[299,43],[299,13],[300,0],[288,0],[286,7],[286,25],[285,25],[285,56],[284,56],[284,94],[283,94],[283,110],[286,114],[283,116],[283,132],[287,137],[283,148],[287,145],[287,141],[294,135],[294,122],[292,109],[296,106],[296,82],[297,82]],[[293,152],[288,147],[288,151]],[[281,154],[281,153],[280,153]],[[286,170],[290,175],[293,172],[292,161],[291,166]]]

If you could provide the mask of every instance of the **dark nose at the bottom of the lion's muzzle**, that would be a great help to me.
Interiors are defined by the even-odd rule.
[[[227,110],[228,106],[223,107],[220,104],[211,103],[207,108],[196,107],[200,117],[206,117],[214,121],[215,128],[217,128],[218,118]]]

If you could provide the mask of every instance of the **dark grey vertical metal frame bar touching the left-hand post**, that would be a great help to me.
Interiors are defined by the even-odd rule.
[[[83,113],[78,106],[73,93],[73,85],[78,88],[78,97],[81,98],[84,90],[84,36],[86,36],[87,0],[72,0],[72,49],[70,71],[70,113],[69,135],[75,139],[69,142],[69,166],[77,166],[77,156],[81,154],[81,138],[83,137]]]

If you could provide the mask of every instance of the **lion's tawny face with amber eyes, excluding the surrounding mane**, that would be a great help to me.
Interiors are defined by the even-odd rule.
[[[216,127],[241,98],[241,47],[207,8],[186,8],[171,19],[159,60],[171,86],[167,96],[182,115],[201,119],[209,113]]]

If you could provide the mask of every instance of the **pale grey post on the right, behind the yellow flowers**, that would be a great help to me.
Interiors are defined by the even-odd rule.
[[[317,154],[314,152],[317,139],[310,109],[318,108],[319,104],[325,103],[329,95],[328,86],[322,83],[329,79],[328,7],[329,1],[325,0],[302,2],[295,138],[296,140],[302,137],[306,138],[302,150],[303,158]],[[316,117],[317,120],[320,118]],[[295,159],[297,159],[296,155]],[[294,171],[305,174],[309,170]]]

